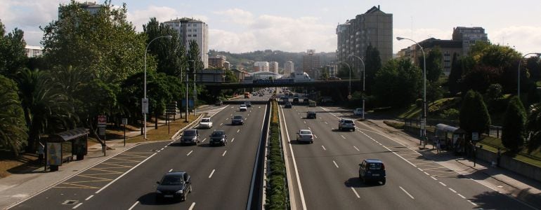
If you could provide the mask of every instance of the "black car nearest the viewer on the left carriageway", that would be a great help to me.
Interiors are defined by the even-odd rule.
[[[186,172],[167,172],[162,181],[157,181],[156,200],[172,199],[185,201],[192,193],[192,180]]]

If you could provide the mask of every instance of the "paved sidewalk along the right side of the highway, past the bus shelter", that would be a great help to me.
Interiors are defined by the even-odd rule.
[[[438,154],[432,145],[427,144],[426,148],[419,148],[419,139],[402,130],[386,125],[383,120],[367,119],[363,123],[375,125],[378,130],[383,131],[387,136],[400,140],[408,148],[421,153],[425,158],[438,162],[438,164],[458,174],[483,183],[483,185],[502,194],[515,197],[522,202],[533,205],[537,209],[541,207],[541,183],[533,179],[528,179],[500,167],[492,167],[490,162],[478,160],[474,166],[474,162],[465,156],[455,156],[446,151]]]

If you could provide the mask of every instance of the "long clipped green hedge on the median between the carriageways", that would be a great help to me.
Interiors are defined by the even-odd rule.
[[[285,163],[282,147],[280,143],[280,123],[278,122],[278,105],[272,103],[273,111],[271,113],[271,138],[268,145],[268,169],[267,169],[267,188],[266,188],[266,207],[265,209],[289,209],[287,197],[287,186],[285,180]]]

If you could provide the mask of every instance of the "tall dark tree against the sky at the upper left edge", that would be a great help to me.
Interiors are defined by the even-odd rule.
[[[15,28],[6,34],[4,24],[0,21],[0,75],[13,78],[25,66],[25,46],[24,32]]]

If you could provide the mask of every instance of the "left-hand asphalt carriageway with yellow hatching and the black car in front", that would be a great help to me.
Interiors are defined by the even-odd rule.
[[[200,130],[198,146],[178,141],[135,146],[13,209],[246,209],[266,105],[245,112],[233,104],[215,108],[223,110],[211,117],[214,127]],[[244,116],[244,125],[230,125],[235,114]],[[226,131],[226,146],[209,146],[213,130]],[[156,202],[156,181],[170,170],[192,176],[187,201]]]

